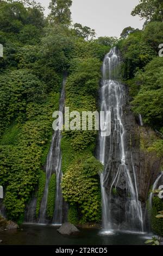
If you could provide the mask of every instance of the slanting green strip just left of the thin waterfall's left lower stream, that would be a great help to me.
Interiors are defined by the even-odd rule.
[[[43,196],[43,191],[45,188],[46,182],[46,173],[42,170],[40,171],[40,178],[39,178],[39,189],[37,192],[37,204],[36,204],[36,217],[39,217],[40,205]]]

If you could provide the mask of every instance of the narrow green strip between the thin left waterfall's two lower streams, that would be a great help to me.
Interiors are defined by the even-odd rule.
[[[47,199],[47,215],[51,219],[53,218],[53,214],[54,214],[56,181],[57,181],[57,177],[55,174],[53,174],[49,181],[48,199]]]

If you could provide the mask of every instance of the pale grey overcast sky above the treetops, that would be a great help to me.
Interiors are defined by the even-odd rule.
[[[37,0],[46,7],[48,0]],[[139,0],[72,0],[72,20],[95,29],[97,36],[120,36],[123,28],[142,28],[143,21],[130,15]]]

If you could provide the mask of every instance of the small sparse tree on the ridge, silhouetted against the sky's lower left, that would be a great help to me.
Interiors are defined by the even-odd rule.
[[[74,31],[76,32],[76,34],[86,40],[88,40],[89,38],[93,39],[95,38],[95,30],[91,29],[89,27],[83,27],[81,24],[79,23],[75,23],[74,24]]]

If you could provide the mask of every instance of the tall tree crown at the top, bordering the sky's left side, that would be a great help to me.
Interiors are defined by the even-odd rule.
[[[69,25],[71,23],[70,7],[72,0],[51,0],[49,9],[51,9],[50,19],[57,23]]]

